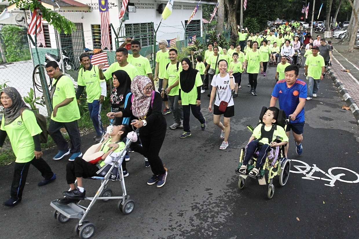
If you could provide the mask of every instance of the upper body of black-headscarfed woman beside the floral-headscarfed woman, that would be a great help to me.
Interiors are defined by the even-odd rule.
[[[125,108],[126,97],[129,99],[131,94],[131,78],[126,71],[118,70],[112,73],[112,79],[111,111],[119,112]],[[116,117],[115,125],[122,125],[122,118]]]

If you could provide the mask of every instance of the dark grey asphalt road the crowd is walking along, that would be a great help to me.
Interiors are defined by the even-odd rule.
[[[219,150],[220,130],[208,111],[207,92],[202,94],[202,113],[208,122],[205,131],[193,116],[190,137],[180,139],[181,130],[168,128],[160,152],[168,168],[164,187],[146,184],[151,170],[145,168],[143,156],[131,153],[127,164],[130,175],[125,182],[135,209],[125,216],[117,210],[117,200],[96,202],[87,217],[97,228],[93,238],[357,238],[358,184],[349,181],[359,180],[355,174],[359,173],[359,128],[353,114],[341,109],[345,102],[331,79],[323,79],[318,97],[306,102],[302,155],[295,153],[290,137],[289,158],[305,162],[308,168],[295,168],[293,165],[304,164],[292,161],[291,170],[297,173],[289,175],[284,187],[280,187],[278,177],[274,179],[271,200],[267,199],[268,186],[257,181],[247,180],[242,190],[237,187],[234,169],[241,147],[251,136],[246,125],[255,125],[262,106],[269,106],[275,71],[269,67],[266,77],[258,76],[257,97],[247,93],[248,75],[244,75],[243,90],[234,99],[227,150]],[[303,68],[300,79],[305,79]],[[172,124],[172,115],[165,117],[168,126]],[[82,137],[83,151],[93,144],[93,136]],[[56,149],[44,153],[57,174],[55,182],[38,187],[41,175],[31,167],[22,203],[14,208],[0,206],[1,238],[78,238],[73,232],[77,220],[60,224],[53,218],[50,202],[69,188],[65,180],[67,158],[54,161],[55,154]],[[304,174],[319,171],[312,175],[318,178],[303,179],[306,176],[300,170]],[[334,177],[330,173],[346,175]],[[0,168],[2,201],[9,198],[12,174],[13,165]],[[332,180],[334,187],[325,185],[330,184],[326,181],[330,177],[337,179]],[[99,182],[85,180],[84,185],[91,196]],[[118,183],[111,182],[109,188],[115,195],[122,193]]]

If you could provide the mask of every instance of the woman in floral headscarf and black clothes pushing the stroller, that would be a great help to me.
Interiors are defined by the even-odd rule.
[[[158,156],[166,135],[167,123],[162,115],[162,97],[155,92],[151,80],[143,75],[135,76],[131,83],[133,99],[128,100],[126,108],[120,112],[109,112],[110,119],[115,117],[131,117],[133,125],[140,128],[140,137],[143,153],[148,157],[148,162],[153,172],[148,185],[155,184],[162,187],[167,178],[167,171],[163,167],[162,160]]]

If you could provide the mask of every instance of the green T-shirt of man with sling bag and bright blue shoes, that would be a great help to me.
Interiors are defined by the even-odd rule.
[[[55,82],[53,82],[53,84],[55,84]],[[56,117],[53,117],[51,114],[51,120],[56,122],[72,122],[80,118],[74,83],[68,76],[63,75],[56,84],[56,89],[52,96],[52,107],[55,108],[56,105],[60,104],[65,99],[70,98],[74,98],[74,100],[67,106],[57,109]]]

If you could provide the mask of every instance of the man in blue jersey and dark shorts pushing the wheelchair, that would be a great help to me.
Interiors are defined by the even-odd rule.
[[[274,86],[270,107],[275,106],[278,99],[279,108],[283,109],[286,115],[290,117],[286,134],[289,137],[289,132],[292,130],[297,146],[295,150],[298,155],[301,155],[303,152],[304,104],[307,99],[307,85],[304,81],[299,80],[298,77],[298,66],[290,65],[285,68],[285,78],[279,80]],[[286,158],[288,158],[288,148],[289,143],[285,146]]]

